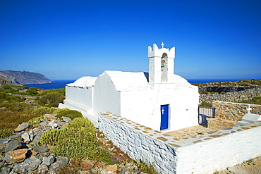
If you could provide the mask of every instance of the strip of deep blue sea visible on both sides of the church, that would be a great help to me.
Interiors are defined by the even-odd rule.
[[[191,84],[207,83],[207,82],[230,82],[238,81],[238,79],[187,79]],[[28,84],[27,87],[37,87],[41,89],[59,89],[66,86],[68,83],[73,83],[75,80],[51,80],[51,83],[44,84]]]

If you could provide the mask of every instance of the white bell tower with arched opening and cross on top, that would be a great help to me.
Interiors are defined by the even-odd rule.
[[[156,83],[171,83],[171,76],[174,74],[175,47],[169,49],[159,49],[157,44],[153,44],[153,49],[148,46],[149,56],[149,83],[154,86]]]

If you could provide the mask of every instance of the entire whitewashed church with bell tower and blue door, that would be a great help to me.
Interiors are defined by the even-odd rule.
[[[83,113],[97,125],[99,113],[111,112],[154,130],[198,125],[198,87],[174,74],[175,47],[148,46],[149,73],[106,70],[66,85],[59,108]]]

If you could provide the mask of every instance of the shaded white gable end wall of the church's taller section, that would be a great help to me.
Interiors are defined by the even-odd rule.
[[[107,73],[99,75],[95,82],[93,99],[94,115],[97,116],[99,112],[110,111],[115,114],[121,114],[121,96],[116,90],[111,78]]]

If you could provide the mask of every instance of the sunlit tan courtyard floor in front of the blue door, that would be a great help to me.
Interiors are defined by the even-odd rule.
[[[195,125],[189,128],[183,128],[181,130],[174,130],[171,132],[164,132],[166,135],[171,135],[172,137],[183,139],[186,137],[192,137],[194,135],[200,135],[205,132],[212,132],[218,130],[217,128],[205,128],[202,125]]]

